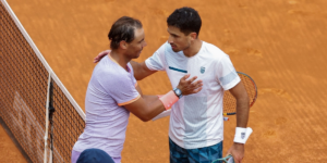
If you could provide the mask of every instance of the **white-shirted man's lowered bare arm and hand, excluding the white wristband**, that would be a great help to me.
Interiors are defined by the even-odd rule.
[[[237,99],[237,127],[246,128],[250,103],[242,82],[229,91]],[[235,163],[241,163],[244,158],[244,143],[234,142],[227,153],[233,155]]]

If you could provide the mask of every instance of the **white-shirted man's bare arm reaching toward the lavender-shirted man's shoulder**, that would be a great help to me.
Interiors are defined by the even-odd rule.
[[[134,77],[137,79],[137,80],[142,80],[143,78],[156,73],[157,71],[150,71],[145,62],[135,62],[135,61],[131,61],[130,62],[131,65],[133,66],[133,70],[134,70]]]

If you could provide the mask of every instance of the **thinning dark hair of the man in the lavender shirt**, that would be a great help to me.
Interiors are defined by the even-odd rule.
[[[138,20],[122,16],[117,20],[108,34],[111,49],[118,49],[120,41],[131,42],[134,40],[134,30],[142,28],[142,23]]]

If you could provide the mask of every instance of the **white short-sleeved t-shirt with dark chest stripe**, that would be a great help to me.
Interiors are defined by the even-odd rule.
[[[203,89],[183,96],[171,108],[169,137],[184,149],[216,145],[223,140],[223,91],[241,79],[229,57],[214,45],[203,41],[198,53],[186,58],[164,43],[145,61],[152,71],[166,71],[172,88],[186,74],[203,80]],[[190,77],[190,78],[191,78]]]

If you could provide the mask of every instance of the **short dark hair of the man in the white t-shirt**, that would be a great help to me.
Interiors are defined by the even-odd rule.
[[[180,30],[185,35],[195,32],[198,36],[202,21],[197,11],[192,8],[184,7],[177,9],[172,14],[170,14],[167,18],[167,24],[168,26],[180,28]]]

